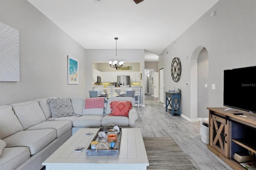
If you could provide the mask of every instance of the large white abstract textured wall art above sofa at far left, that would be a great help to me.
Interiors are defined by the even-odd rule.
[[[19,31],[0,22],[0,81],[20,81]]]

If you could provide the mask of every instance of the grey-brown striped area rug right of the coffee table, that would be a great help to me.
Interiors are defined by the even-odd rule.
[[[194,164],[170,137],[143,138],[150,169],[195,170]]]

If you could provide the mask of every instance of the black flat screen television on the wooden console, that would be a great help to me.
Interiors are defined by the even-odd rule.
[[[224,106],[256,113],[256,66],[224,70]]]

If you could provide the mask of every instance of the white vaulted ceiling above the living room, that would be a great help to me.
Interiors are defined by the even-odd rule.
[[[158,55],[219,0],[28,0],[85,49]]]

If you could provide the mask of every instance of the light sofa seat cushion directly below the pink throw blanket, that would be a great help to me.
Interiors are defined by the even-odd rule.
[[[83,115],[73,121],[73,127],[100,127],[103,115]]]

